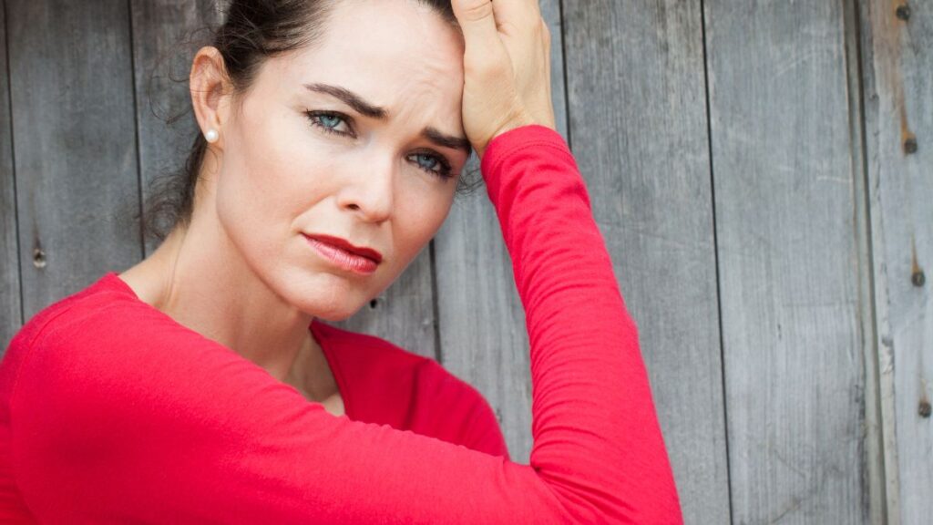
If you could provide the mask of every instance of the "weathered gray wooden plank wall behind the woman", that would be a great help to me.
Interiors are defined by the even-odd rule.
[[[562,134],[640,328],[688,523],[933,517],[933,1],[542,0]],[[155,246],[211,1],[7,0],[0,341]],[[197,38],[197,34],[195,38]],[[531,441],[485,190],[345,326],[442,362]],[[477,330],[477,327],[483,327]],[[620,475],[638,475],[619,465]]]

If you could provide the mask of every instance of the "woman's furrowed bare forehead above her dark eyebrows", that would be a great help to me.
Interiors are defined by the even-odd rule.
[[[340,85],[390,111],[459,110],[463,52],[457,29],[415,0],[347,0],[336,3],[316,45],[269,65],[279,82]]]

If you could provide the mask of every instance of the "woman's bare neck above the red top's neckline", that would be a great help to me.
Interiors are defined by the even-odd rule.
[[[277,379],[291,383],[295,377],[313,375],[292,370],[301,348],[307,348],[308,355],[320,354],[309,331],[313,316],[275,294],[242,259],[220,224],[202,221],[176,228],[149,258],[120,277],[146,303],[256,362]]]

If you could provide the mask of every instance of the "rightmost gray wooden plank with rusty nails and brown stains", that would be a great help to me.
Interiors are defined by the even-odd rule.
[[[858,3],[887,522],[933,515],[933,6]]]

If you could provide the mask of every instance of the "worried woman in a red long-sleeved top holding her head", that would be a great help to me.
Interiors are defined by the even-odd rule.
[[[679,523],[549,47],[536,0],[234,1],[191,68],[188,211],[7,350],[0,517]],[[424,248],[470,147],[527,310],[530,465],[439,365],[318,320]]]

